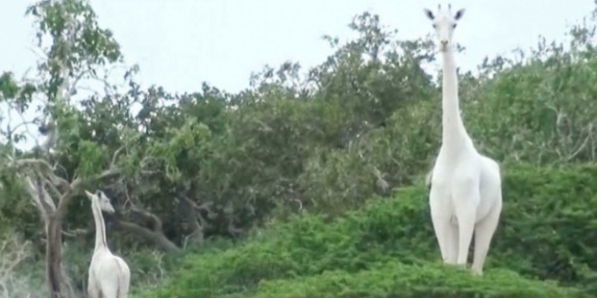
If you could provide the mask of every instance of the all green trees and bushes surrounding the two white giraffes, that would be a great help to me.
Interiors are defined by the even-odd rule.
[[[87,1],[27,14],[45,58],[0,76],[0,297],[84,296],[96,189],[134,297],[597,296],[593,19],[460,75],[470,134],[505,175],[479,278],[438,262],[421,184],[441,123],[429,38],[362,13],[313,69],[177,94],[136,83]]]

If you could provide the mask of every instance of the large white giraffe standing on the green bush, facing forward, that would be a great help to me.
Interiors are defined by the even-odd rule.
[[[474,231],[472,271],[482,275],[501,213],[500,167],[478,153],[460,117],[452,35],[464,10],[453,14],[450,5],[438,5],[436,15],[424,12],[433,21],[443,59],[442,144],[428,177],[433,229],[444,262],[460,266],[466,266]]]

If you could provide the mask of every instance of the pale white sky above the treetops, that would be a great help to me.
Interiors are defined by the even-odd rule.
[[[0,4],[0,72],[20,76],[35,65],[33,28],[24,17],[32,1]],[[446,5],[447,2],[441,2]],[[399,30],[399,37],[432,32],[423,8],[438,0],[91,0],[100,25],[111,29],[128,64],[138,63],[143,86],[171,92],[199,91],[201,82],[229,92],[248,87],[251,72],[285,60],[304,67],[322,63],[332,50],[321,36],[346,40],[347,24],[365,10]],[[593,10],[593,0],[454,0],[466,8],[454,40],[467,48],[461,70],[475,70],[488,55],[517,46],[564,40],[567,25]]]

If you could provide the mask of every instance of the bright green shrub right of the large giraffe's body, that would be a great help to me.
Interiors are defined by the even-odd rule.
[[[507,166],[503,189],[490,250],[496,265],[566,284],[595,284],[597,166]]]

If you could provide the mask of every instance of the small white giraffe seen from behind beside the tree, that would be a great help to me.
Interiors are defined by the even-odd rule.
[[[89,266],[87,293],[91,298],[126,298],[130,287],[131,271],[127,263],[110,252],[106,243],[106,226],[101,211],[114,213],[106,195],[85,191],[91,200],[91,210],[96,222],[96,247]]]

